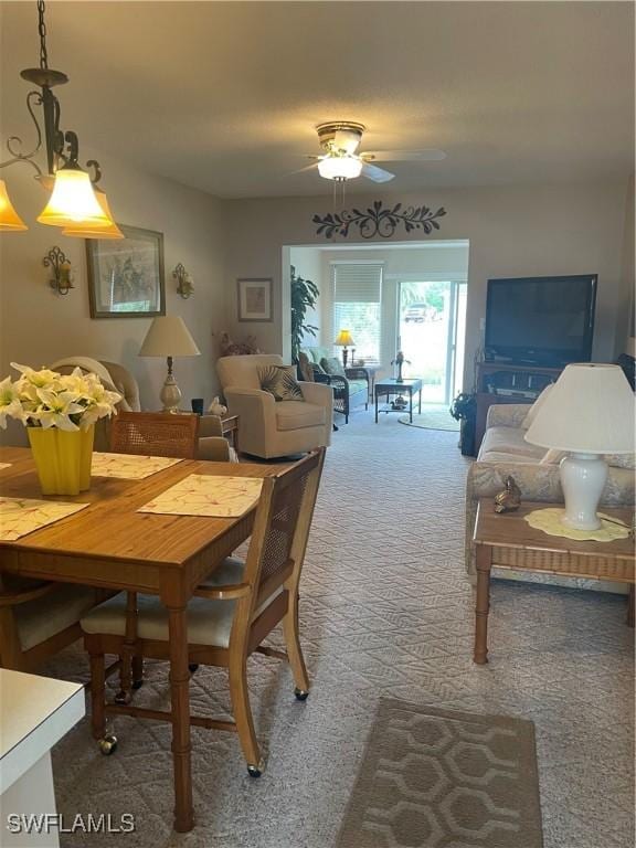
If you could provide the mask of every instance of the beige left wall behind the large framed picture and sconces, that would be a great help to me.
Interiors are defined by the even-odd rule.
[[[167,312],[182,316],[201,350],[200,357],[176,360],[183,405],[197,396],[210,402],[218,393],[212,331],[224,329],[226,310],[221,202],[97,151],[82,151],[83,160],[92,156],[102,161],[116,219],[163,233]],[[144,407],[158,409],[166,362],[137,356],[150,319],[91,319],[84,241],[35,222],[46,194],[25,166],[6,169],[2,176],[30,229],[0,234],[0,374],[9,373],[10,361],[39,367],[73,354],[109,359],[137,377]],[[75,289],[65,297],[49,287],[50,273],[42,266],[53,245],[67,254],[75,271]],[[179,262],[194,279],[194,295],[187,300],[172,279]]]

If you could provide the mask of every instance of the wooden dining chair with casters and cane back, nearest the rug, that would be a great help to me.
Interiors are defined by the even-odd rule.
[[[275,476],[265,477],[245,562],[225,560],[193,593],[188,606],[189,660],[229,669],[233,721],[192,717],[192,723],[232,730],[239,739],[248,773],[257,777],[264,764],[254,731],[247,689],[247,657],[253,653],[288,660],[295,695],[305,700],[309,679],[298,638],[298,583],[307,548],[325,448]],[[134,622],[134,627],[131,627]],[[263,646],[283,623],[286,651]],[[93,734],[103,753],[117,740],[106,736],[106,712],[124,712],[171,721],[170,711],[105,704],[104,657],[124,655],[127,646],[144,657],[169,659],[168,612],[156,596],[139,595],[130,606],[121,595],[100,604],[82,618],[84,644],[91,656]]]

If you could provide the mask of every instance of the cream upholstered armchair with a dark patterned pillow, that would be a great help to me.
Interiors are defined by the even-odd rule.
[[[275,401],[261,389],[258,369],[283,365],[277,354],[222,357],[216,372],[231,415],[239,415],[241,453],[269,459],[331,443],[332,390],[299,383],[304,401]]]

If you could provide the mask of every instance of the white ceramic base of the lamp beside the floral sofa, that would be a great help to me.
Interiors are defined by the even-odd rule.
[[[596,507],[607,480],[607,463],[600,454],[570,454],[561,459],[560,469],[565,498],[562,522],[574,530],[597,530]]]

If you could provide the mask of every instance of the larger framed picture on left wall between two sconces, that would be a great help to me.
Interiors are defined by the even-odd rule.
[[[87,239],[91,318],[166,315],[163,235],[136,226],[125,239]]]

